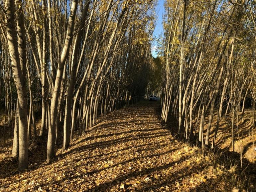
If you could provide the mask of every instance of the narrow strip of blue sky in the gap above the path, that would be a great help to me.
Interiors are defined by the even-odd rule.
[[[156,26],[155,26],[155,30],[153,32],[153,37],[155,38],[155,40],[152,43],[152,47],[151,47],[151,53],[154,57],[157,56],[156,53],[156,49],[157,49],[157,41],[156,38],[160,37],[163,33],[163,25],[162,25],[162,21],[163,21],[163,12],[164,12],[164,2],[165,0],[158,0],[157,2],[157,7],[156,7]]]

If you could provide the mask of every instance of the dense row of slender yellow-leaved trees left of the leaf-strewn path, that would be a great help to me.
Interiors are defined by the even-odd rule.
[[[65,150],[75,130],[82,133],[99,116],[145,96],[152,70],[153,3],[0,1],[1,101],[7,116],[16,116],[13,156],[19,157],[19,169],[28,167],[31,136],[48,132],[50,161],[60,137]]]

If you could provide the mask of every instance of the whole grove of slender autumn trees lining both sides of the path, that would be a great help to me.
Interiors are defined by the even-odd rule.
[[[51,162],[61,141],[64,151],[100,117],[151,94],[161,118],[176,115],[180,135],[202,147],[215,147],[228,116],[234,151],[251,107],[254,146],[256,0],[166,0],[153,58],[156,2],[0,0],[3,144],[13,138],[20,170],[31,141],[47,140]]]

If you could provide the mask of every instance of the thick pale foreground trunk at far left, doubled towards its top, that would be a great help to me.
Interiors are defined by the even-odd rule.
[[[19,10],[15,10],[14,1],[5,1],[6,10],[6,30],[7,40],[9,46],[9,53],[12,62],[12,71],[14,82],[18,94],[19,107],[19,169],[24,170],[28,168],[28,138],[27,138],[27,93],[26,93],[26,42],[25,42],[25,28],[24,17],[22,12],[22,2],[17,1]],[[17,31],[15,30],[14,13],[18,15]],[[18,32],[18,33],[17,33]],[[19,38],[17,38],[17,35]],[[18,48],[19,46],[19,48]],[[21,59],[22,58],[22,59]]]

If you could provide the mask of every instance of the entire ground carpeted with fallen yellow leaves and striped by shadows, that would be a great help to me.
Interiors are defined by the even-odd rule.
[[[176,136],[177,122],[166,126],[159,114],[159,102],[117,110],[99,119],[68,150],[57,146],[50,164],[45,162],[46,142],[38,140],[23,172],[10,157],[11,146],[2,148],[0,191],[256,190],[255,162],[243,158],[240,168],[236,152],[187,144]]]

